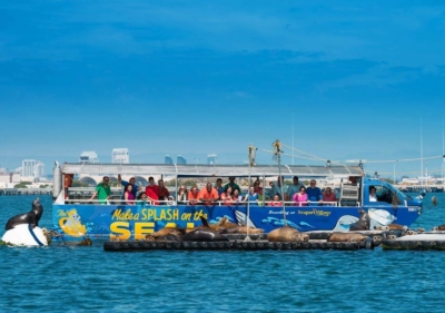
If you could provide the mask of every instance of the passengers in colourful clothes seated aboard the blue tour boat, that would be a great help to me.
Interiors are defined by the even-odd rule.
[[[123,180],[119,174],[118,182],[123,186],[122,203],[127,205],[135,205],[136,202],[157,205],[174,199],[162,179],[159,179],[158,184],[155,184],[155,178],[150,176],[148,178],[148,185],[145,188],[142,186],[137,186],[134,177],[127,182]],[[270,189],[266,194],[266,203],[269,206],[283,206],[283,200],[287,203],[293,202],[296,206],[307,206],[314,202],[334,203],[337,200],[330,187],[326,187],[324,193],[322,193],[320,188],[316,186],[315,179],[312,179],[309,187],[306,188],[299,183],[298,177],[294,176],[293,184],[285,188],[283,176],[278,176],[277,180],[269,183],[269,186]],[[263,200],[263,187],[258,179],[254,182],[254,185],[249,187],[245,196],[241,196],[240,192],[239,185],[235,183],[235,177],[230,176],[229,183],[226,185],[222,186],[222,179],[218,178],[215,186],[208,182],[206,187],[201,190],[199,190],[197,185],[194,185],[190,190],[187,190],[185,185],[180,185],[177,193],[177,200],[178,204],[189,205],[214,205],[217,202],[221,202],[222,205],[246,203],[258,205],[258,202]],[[108,176],[103,176],[102,182],[97,185],[91,199],[96,196],[98,196],[99,203],[101,204],[109,200],[111,189]]]

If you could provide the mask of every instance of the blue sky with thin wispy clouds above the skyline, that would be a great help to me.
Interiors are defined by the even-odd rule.
[[[3,167],[117,147],[239,164],[249,143],[271,164],[293,125],[322,158],[419,158],[421,120],[424,156],[443,155],[442,1],[3,1],[0,17]]]

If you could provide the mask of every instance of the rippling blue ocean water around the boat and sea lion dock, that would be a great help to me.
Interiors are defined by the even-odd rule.
[[[445,223],[427,194],[413,227]],[[0,225],[33,196],[0,196]],[[40,226],[51,228],[41,196]],[[4,226],[2,226],[4,227]],[[1,235],[4,231],[1,232]],[[445,252],[105,252],[0,246],[0,312],[443,312]]]

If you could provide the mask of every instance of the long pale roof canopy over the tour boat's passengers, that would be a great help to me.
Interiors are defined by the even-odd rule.
[[[175,175],[178,177],[247,177],[247,176],[363,176],[359,166],[306,166],[306,165],[177,165],[177,164],[81,164],[63,163],[63,174],[88,175]]]

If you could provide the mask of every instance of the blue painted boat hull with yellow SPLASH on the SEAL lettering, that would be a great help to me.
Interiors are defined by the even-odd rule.
[[[370,226],[388,224],[412,225],[419,216],[419,207],[388,206],[362,207],[370,217]],[[148,205],[53,205],[53,227],[65,239],[85,236],[119,236],[121,239],[140,239],[166,226],[192,228],[201,225],[200,216],[217,223],[224,216],[233,223],[245,223],[265,233],[287,225],[300,232],[347,232],[358,221],[358,207],[335,206],[148,206]]]

